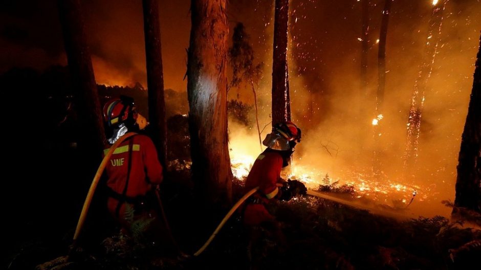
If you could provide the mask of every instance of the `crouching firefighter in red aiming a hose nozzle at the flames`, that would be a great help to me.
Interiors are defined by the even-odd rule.
[[[263,144],[266,150],[259,154],[246,179],[246,190],[259,187],[243,208],[243,222],[249,232],[248,256],[252,260],[253,246],[263,232],[276,238],[277,243],[285,248],[286,240],[278,221],[269,213],[266,205],[273,200],[290,200],[298,194],[305,194],[307,189],[299,181],[283,181],[280,172],[289,165],[294,147],[301,140],[301,130],[292,122],[278,123],[267,134]],[[282,184],[278,187],[277,184]]]

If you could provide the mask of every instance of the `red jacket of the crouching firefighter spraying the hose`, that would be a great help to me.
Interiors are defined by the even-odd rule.
[[[244,211],[244,223],[247,225],[259,225],[264,221],[274,220],[264,206],[279,194],[277,183],[280,182],[282,169],[282,156],[276,152],[265,151],[261,153],[246,179],[246,190],[255,187],[259,190],[253,195],[254,203],[247,203]]]

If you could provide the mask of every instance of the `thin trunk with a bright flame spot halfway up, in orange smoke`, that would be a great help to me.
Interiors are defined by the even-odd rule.
[[[381,30],[379,33],[379,50],[378,50],[378,91],[376,94],[376,110],[373,122],[373,138],[374,138],[374,174],[379,176],[382,169],[381,158],[382,146],[379,142],[381,132],[383,102],[384,102],[384,88],[386,86],[386,38],[387,29],[389,26],[389,13],[391,12],[391,4],[393,0],[385,0],[384,9],[382,11]]]

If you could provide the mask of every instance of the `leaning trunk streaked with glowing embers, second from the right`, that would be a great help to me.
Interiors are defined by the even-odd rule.
[[[418,67],[418,77],[414,83],[411,106],[409,108],[406,150],[404,152],[404,170],[406,172],[414,170],[414,164],[416,164],[418,159],[418,144],[426,85],[431,77],[432,65],[438,53],[443,11],[448,1],[449,0],[441,0],[432,7],[431,18],[429,20],[429,33],[424,46],[423,62]]]

